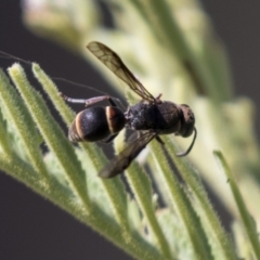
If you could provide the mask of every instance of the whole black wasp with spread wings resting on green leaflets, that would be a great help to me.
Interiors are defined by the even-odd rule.
[[[123,113],[108,95],[89,100],[70,99],[63,95],[64,100],[68,102],[84,103],[86,106],[104,100],[110,104],[106,107],[88,107],[81,110],[68,130],[68,138],[72,142],[103,141],[108,143],[123,127],[138,131],[129,138],[127,147],[110,160],[99,176],[112,178],[121,173],[153,139],[164,144],[159,134],[174,133],[187,138],[194,131],[194,138],[187,151],[177,154],[178,156],[187,155],[197,135],[192,109],[184,104],[178,105],[170,101],[161,101],[161,94],[154,98],[108,47],[93,41],[87,48],[142,98],[141,102],[129,106]]]

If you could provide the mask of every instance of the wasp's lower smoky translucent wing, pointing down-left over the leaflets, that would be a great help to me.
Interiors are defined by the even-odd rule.
[[[151,142],[157,133],[155,132],[139,132],[140,135],[133,141],[130,141],[128,146],[117,155],[99,173],[101,178],[112,178],[121,173],[139,153]],[[129,140],[133,139],[133,133]]]

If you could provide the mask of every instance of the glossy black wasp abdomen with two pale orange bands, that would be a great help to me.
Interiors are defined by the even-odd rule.
[[[123,113],[114,106],[90,107],[80,112],[68,130],[72,142],[96,142],[120,131],[125,126]]]

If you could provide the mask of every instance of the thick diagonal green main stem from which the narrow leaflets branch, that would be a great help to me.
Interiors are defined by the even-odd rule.
[[[50,190],[47,191],[44,183],[37,177],[37,172],[15,154],[12,154],[12,156],[0,156],[0,165],[1,170],[23,182],[38,194],[49,198],[52,203],[58,205],[84,224],[90,225],[134,258],[145,260],[160,259],[159,252],[136,232],[132,231],[131,236],[126,240],[121,227],[113,218],[105,216],[102,209],[93,206],[91,214],[88,214],[77,198],[73,197],[68,199],[65,190],[56,188],[54,179],[50,179]]]

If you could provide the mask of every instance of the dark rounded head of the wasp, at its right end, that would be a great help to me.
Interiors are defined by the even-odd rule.
[[[179,134],[183,138],[187,138],[193,133],[195,117],[190,106],[182,104],[181,109],[183,113],[183,121],[182,121],[182,128]]]

